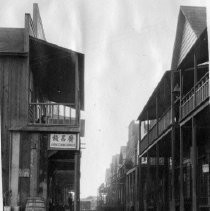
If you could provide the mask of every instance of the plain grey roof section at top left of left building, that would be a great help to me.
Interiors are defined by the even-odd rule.
[[[23,52],[24,29],[0,28],[0,52]]]

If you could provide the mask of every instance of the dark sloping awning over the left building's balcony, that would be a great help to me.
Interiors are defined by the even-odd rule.
[[[30,68],[44,97],[57,103],[75,103],[78,68],[80,108],[84,109],[84,55],[30,37]]]

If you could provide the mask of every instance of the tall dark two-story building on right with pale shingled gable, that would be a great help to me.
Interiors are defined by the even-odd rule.
[[[140,210],[208,210],[209,54],[206,9],[182,6],[171,70],[138,119]]]

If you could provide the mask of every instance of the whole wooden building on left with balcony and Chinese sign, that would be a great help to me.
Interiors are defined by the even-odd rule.
[[[0,28],[4,204],[79,211],[84,55],[46,41],[38,5],[24,28]]]

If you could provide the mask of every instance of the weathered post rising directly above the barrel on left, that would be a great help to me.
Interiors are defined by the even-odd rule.
[[[31,134],[31,163],[30,163],[30,197],[36,197],[38,192],[38,169],[39,169],[39,134]]]

